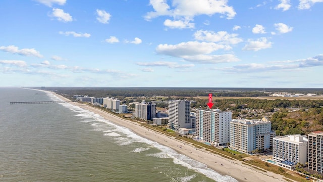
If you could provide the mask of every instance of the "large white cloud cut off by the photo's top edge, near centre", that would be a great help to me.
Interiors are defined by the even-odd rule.
[[[159,16],[174,17],[178,19],[193,19],[194,16],[213,14],[226,15],[227,19],[235,17],[236,12],[233,7],[227,5],[227,0],[194,0],[189,3],[187,0],[173,0],[171,5],[168,5],[167,0],[150,0],[150,5],[154,9],[153,12],[148,12],[145,16],[146,20],[151,20]]]

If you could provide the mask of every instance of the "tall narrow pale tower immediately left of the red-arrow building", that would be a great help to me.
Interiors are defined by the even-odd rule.
[[[178,131],[179,128],[192,128],[190,119],[191,104],[187,100],[170,100],[168,102],[169,110],[169,129]]]

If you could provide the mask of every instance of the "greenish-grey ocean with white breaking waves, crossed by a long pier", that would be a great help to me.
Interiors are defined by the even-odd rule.
[[[0,181],[237,181],[40,90],[0,88]]]

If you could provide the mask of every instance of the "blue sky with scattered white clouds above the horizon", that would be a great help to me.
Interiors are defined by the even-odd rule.
[[[0,86],[323,87],[323,0],[1,0]]]

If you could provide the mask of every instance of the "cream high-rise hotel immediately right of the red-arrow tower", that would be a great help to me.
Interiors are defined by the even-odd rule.
[[[230,148],[243,153],[265,150],[273,146],[275,132],[272,122],[266,117],[261,120],[233,119],[230,122]]]

